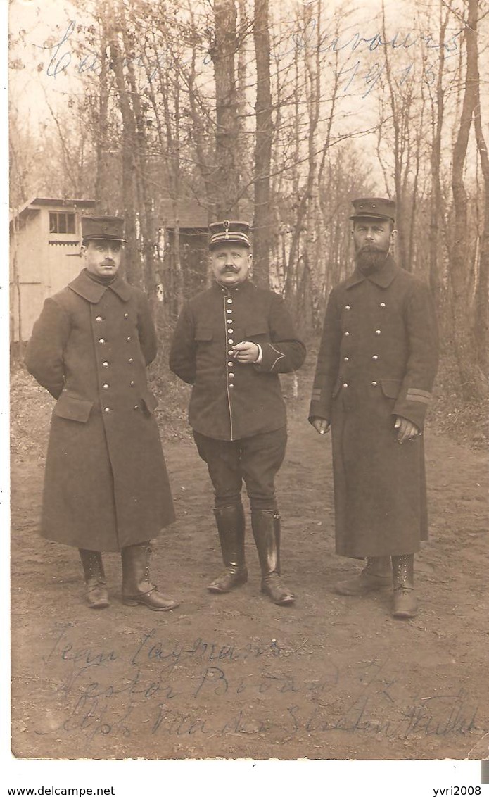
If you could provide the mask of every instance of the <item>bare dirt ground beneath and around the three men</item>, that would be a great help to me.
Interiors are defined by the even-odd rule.
[[[297,387],[302,395],[295,397]],[[276,607],[250,579],[205,586],[221,567],[205,465],[162,422],[178,520],[152,575],[181,606],[91,611],[76,551],[37,529],[52,402],[13,381],[13,751],[22,758],[480,759],[489,756],[487,453],[426,434],[431,536],[417,556],[417,618],[389,594],[334,593],[359,567],[334,555],[331,450],[307,424],[309,377],[284,379],[288,455],[278,480],[282,569],[297,595]],[[161,415],[161,420],[163,415]]]

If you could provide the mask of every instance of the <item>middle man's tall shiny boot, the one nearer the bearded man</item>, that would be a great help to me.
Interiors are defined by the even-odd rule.
[[[273,509],[252,511],[252,531],[261,568],[261,591],[278,606],[294,603],[295,595],[280,579],[280,515]]]

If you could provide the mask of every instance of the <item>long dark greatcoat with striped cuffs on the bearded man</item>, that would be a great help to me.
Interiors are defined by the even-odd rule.
[[[423,429],[437,363],[428,287],[390,257],[331,291],[309,419],[331,421],[338,554],[400,556],[427,539],[423,438],[400,445],[394,418]]]

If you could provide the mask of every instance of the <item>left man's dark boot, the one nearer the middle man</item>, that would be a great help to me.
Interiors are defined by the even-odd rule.
[[[142,603],[152,611],[169,611],[178,601],[162,595],[150,580],[151,545],[149,542],[128,545],[121,551],[123,566],[123,604]]]

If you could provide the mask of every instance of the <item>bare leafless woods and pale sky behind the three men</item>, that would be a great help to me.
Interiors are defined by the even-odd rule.
[[[253,279],[282,292],[314,336],[351,270],[350,200],[396,198],[397,260],[429,282],[456,390],[481,401],[489,3],[370,6],[358,22],[349,2],[74,0],[36,63],[25,57],[33,31],[12,25],[12,75],[66,89],[62,103],[46,94],[34,124],[11,82],[11,206],[37,192],[123,214],[126,275],[160,328],[205,285],[205,253],[196,281],[178,236],[182,202],[209,221],[245,218]]]

